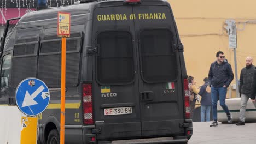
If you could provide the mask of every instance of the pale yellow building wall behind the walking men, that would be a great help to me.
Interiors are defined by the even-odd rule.
[[[188,75],[194,76],[197,86],[208,77],[210,64],[216,60],[217,51],[223,51],[231,64],[234,80],[227,98],[235,98],[232,89],[235,81],[233,49],[229,49],[225,20],[234,19],[237,26],[237,71],[245,67],[245,58],[256,58],[255,0],[168,0],[176,19],[179,35],[184,44]],[[255,60],[256,61],[256,60]],[[256,63],[255,63],[256,64]]]

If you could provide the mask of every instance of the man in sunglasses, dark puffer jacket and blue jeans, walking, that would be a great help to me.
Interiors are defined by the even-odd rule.
[[[228,117],[228,123],[232,123],[232,116],[229,112],[228,106],[226,106],[226,90],[229,87],[231,81],[234,79],[234,74],[231,65],[225,62],[225,56],[222,51],[216,53],[217,61],[211,64],[208,78],[209,85],[211,86],[212,97],[212,116],[213,122],[210,127],[215,127],[217,123],[217,101],[219,100],[220,106],[225,111]]]

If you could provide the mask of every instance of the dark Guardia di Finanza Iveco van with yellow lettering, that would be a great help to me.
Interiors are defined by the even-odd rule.
[[[58,11],[71,13],[66,47],[65,143],[187,143],[193,128],[188,80],[167,1],[92,1],[8,20],[1,44],[6,86],[37,77],[50,88],[38,143],[60,141],[61,38]]]

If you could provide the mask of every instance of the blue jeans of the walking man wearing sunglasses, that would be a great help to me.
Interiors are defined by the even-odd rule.
[[[213,121],[217,121],[217,102],[219,100],[220,106],[226,112],[226,115],[230,115],[228,106],[226,106],[226,87],[213,87],[211,86],[212,97],[212,118]]]

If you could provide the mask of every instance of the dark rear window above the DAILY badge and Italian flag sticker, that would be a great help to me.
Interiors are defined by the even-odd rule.
[[[176,53],[168,29],[144,30],[140,34],[142,77],[146,82],[168,82],[177,77]]]

